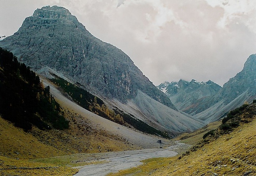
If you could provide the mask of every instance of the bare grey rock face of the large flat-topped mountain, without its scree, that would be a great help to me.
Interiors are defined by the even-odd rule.
[[[95,38],[63,7],[35,10],[0,46],[11,50],[33,70],[49,66],[101,97],[125,103],[140,90],[175,109],[129,56]]]

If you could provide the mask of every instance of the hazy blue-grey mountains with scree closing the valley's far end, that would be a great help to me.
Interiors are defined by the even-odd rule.
[[[244,68],[223,87],[212,81],[164,82],[157,86],[177,109],[205,121],[219,120],[226,112],[256,99],[256,54],[246,60]],[[207,87],[207,88],[206,88]]]

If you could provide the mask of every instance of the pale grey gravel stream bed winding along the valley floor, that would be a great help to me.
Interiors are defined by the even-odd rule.
[[[187,150],[189,145],[176,142],[176,145],[165,149],[141,149],[122,152],[107,152],[97,154],[85,154],[85,160],[77,160],[76,163],[96,163],[75,167],[79,172],[75,176],[105,176],[108,173],[118,172],[143,164],[141,161],[156,157],[173,157]],[[90,159],[90,160],[86,160]],[[74,161],[73,161],[74,162]]]

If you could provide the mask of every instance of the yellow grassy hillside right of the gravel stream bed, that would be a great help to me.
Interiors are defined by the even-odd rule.
[[[255,109],[256,104],[254,111]],[[247,115],[248,113],[244,113],[241,117],[247,118]],[[211,140],[209,144],[181,159],[178,159],[179,156],[148,159],[143,161],[142,166],[113,175],[256,175],[255,129],[254,115],[251,122],[242,123],[233,132],[223,134],[217,140]]]

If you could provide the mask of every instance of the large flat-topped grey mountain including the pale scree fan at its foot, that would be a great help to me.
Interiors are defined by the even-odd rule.
[[[178,112],[128,55],[95,38],[63,7],[35,10],[14,35],[0,42],[0,47],[13,52],[34,71],[54,70],[101,97],[110,107],[160,130],[177,133],[204,125]]]

